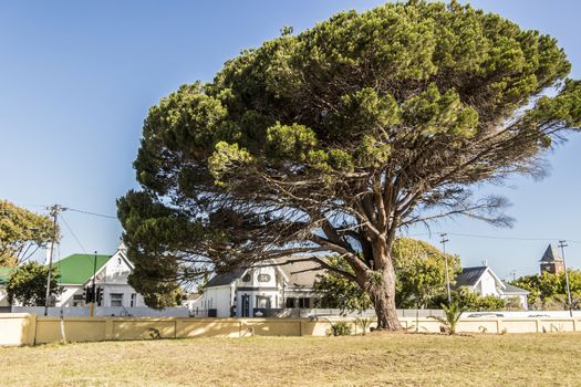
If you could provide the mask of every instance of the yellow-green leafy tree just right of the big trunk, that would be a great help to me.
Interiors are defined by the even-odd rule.
[[[398,307],[438,307],[447,294],[444,253],[429,243],[412,238],[400,238],[392,253]],[[452,254],[447,258],[449,280],[454,285],[454,279],[461,271],[460,260]]]

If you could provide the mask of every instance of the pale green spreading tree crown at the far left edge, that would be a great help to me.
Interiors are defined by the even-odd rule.
[[[0,266],[17,266],[46,247],[53,236],[50,217],[0,200]]]

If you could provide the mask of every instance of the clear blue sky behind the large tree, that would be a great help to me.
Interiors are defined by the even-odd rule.
[[[1,2],[0,198],[35,211],[61,203],[114,216],[115,199],[136,187],[132,163],[143,119],[160,97],[180,84],[211,80],[226,60],[277,36],[283,25],[301,31],[340,10],[381,3]],[[573,64],[571,75],[581,77],[581,2],[471,3],[556,36]],[[512,201],[512,229],[454,220],[421,238],[437,243],[437,234],[448,232],[447,250],[465,266],[486,259],[502,278],[536,272],[548,239],[568,239],[568,263],[581,268],[581,135],[548,159],[552,172],[542,181],[515,178],[511,187],[487,188]],[[62,223],[60,257],[113,252],[118,244],[116,220],[77,212],[63,219],[80,243]]]

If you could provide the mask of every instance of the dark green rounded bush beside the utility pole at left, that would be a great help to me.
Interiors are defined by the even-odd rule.
[[[23,306],[43,306],[46,299],[49,268],[37,262],[28,262],[14,269],[6,286],[10,304],[20,302]],[[59,272],[52,268],[51,295],[61,294]]]

